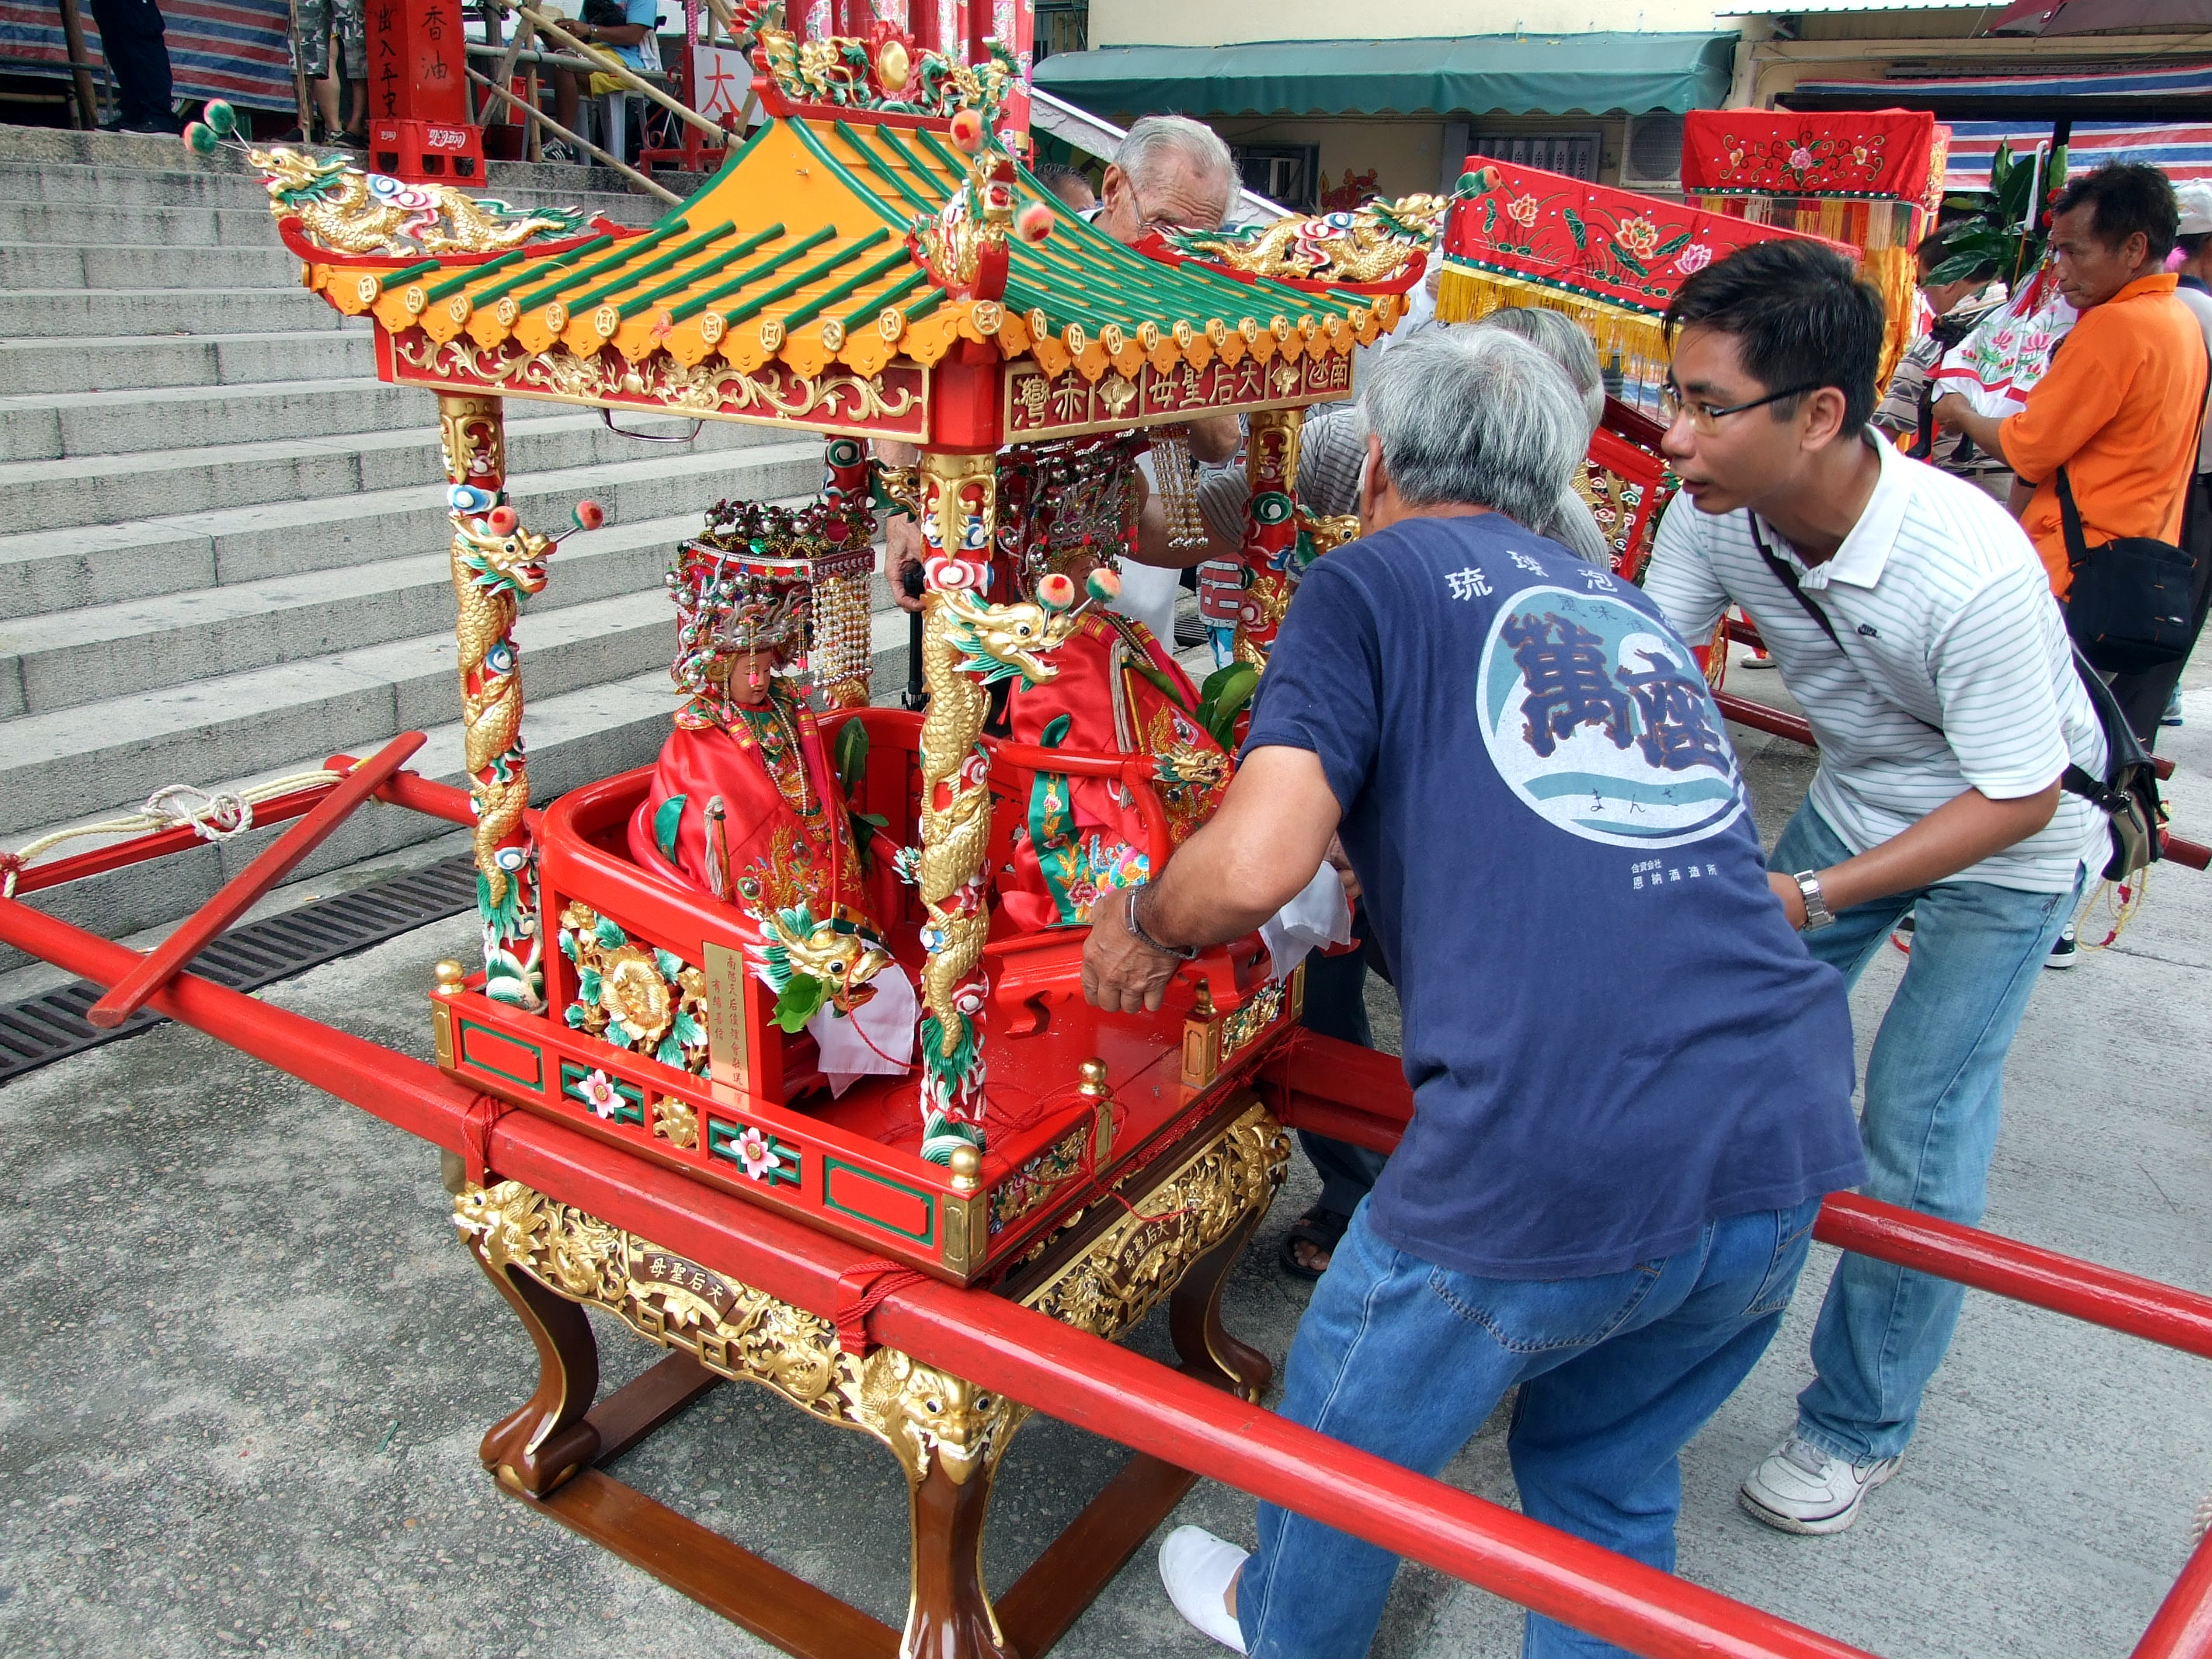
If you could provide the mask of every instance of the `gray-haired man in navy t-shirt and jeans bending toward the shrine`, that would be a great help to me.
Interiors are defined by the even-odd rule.
[[[1367,420],[1363,535],[1298,586],[1219,814],[1099,898],[1084,993],[1157,1009],[1181,947],[1248,933],[1340,836],[1413,1121],[1298,1321],[1283,1416],[1433,1475],[1517,1383],[1522,1509],[1672,1568],[1677,1453],[1774,1336],[1820,1197],[1865,1175],[1843,978],[1767,887],[1690,646],[1522,529],[1586,440],[1553,363],[1425,334]],[[1159,1566],[1239,1652],[1352,1659],[1398,1564],[1263,1504],[1256,1555],[1186,1526]],[[1619,1650],[1528,1615],[1522,1652]]]

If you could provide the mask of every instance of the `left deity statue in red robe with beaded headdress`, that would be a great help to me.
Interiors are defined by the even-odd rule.
[[[708,513],[668,571],[670,677],[688,701],[628,830],[635,863],[732,907],[748,967],[779,1015],[807,1020],[832,1082],[902,1071],[914,1051],[914,987],[869,922],[845,792],[807,708],[814,584],[821,566],[867,557],[869,529],[865,509],[827,504]]]

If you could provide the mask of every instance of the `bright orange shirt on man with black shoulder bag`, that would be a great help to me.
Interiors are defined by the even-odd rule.
[[[2179,542],[2203,407],[2205,336],[2172,276],[2137,276],[2081,312],[2026,407],[1997,427],[2004,460],[2035,484],[2020,524],[2053,593],[2064,599],[2073,586],[2053,473],[2066,467],[2090,546]]]

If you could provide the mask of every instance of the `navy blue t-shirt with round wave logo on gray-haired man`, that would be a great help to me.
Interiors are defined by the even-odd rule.
[[[1721,712],[1641,591],[1502,513],[1329,553],[1245,752],[1321,757],[1405,1006],[1367,1219],[1493,1279],[1621,1272],[1865,1179],[1843,978],[1767,889]]]

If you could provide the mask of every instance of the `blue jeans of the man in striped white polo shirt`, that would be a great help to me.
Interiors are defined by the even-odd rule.
[[[1767,860],[1825,869],[1851,849],[1809,805],[1798,807]],[[1913,956],[1867,1060],[1867,1197],[1962,1221],[1982,1219],[1997,1150],[2004,1055],[2059,929],[2081,902],[1982,880],[1940,880],[1836,914],[1805,947],[1856,982],[1889,929],[1913,911]],[[1798,1433],[1834,1458],[1893,1458],[1913,1438],[1920,1391],[1958,1325],[1964,1285],[1845,1254],[1812,1336],[1812,1387],[1798,1396]]]

